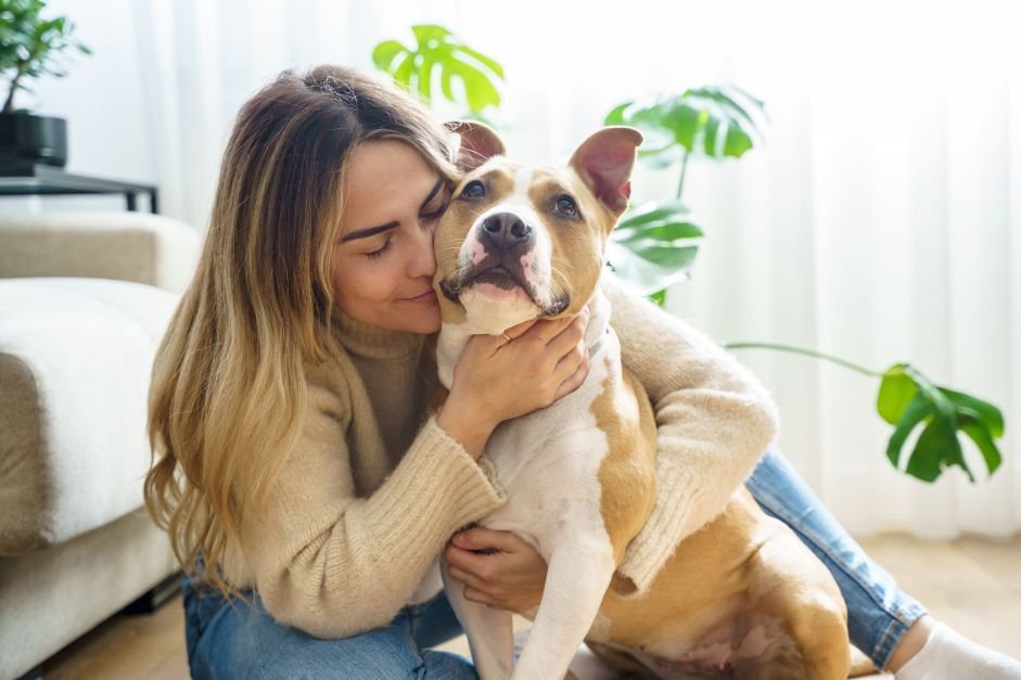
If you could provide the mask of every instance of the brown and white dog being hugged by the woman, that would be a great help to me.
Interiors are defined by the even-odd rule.
[[[641,136],[602,129],[567,167],[528,168],[503,158],[488,128],[449,127],[461,136],[468,174],[435,238],[443,384],[449,388],[473,334],[586,306],[591,312],[585,383],[501,424],[486,446],[508,500],[480,524],[514,531],[549,565],[538,610],[521,612],[534,623],[516,667],[511,614],[465,600],[443,568],[480,676],[562,678],[584,639],[642,677],[846,678],[846,611],[837,585],[744,489],[681,543],[647,593],[609,588],[655,495],[653,412],[622,367],[599,285]]]

